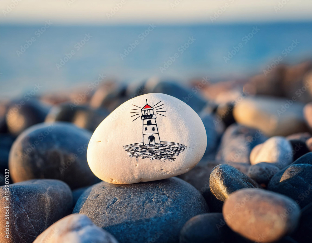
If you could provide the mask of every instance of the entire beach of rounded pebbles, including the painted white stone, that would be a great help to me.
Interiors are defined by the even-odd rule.
[[[1,242],[312,242],[311,84],[304,61],[1,100]]]

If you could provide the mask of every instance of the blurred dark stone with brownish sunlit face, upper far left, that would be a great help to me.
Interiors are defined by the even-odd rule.
[[[26,128],[43,122],[48,112],[49,108],[37,99],[14,101],[6,114],[8,130],[17,136]]]

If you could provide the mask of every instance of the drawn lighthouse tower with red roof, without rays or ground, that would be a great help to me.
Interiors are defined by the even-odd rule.
[[[160,144],[154,108],[147,104],[141,109],[143,121],[143,144]]]

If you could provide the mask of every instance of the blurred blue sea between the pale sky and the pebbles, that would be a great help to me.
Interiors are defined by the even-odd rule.
[[[278,57],[312,57],[312,22],[216,25],[1,25],[2,97],[88,85],[99,75],[134,82],[159,76],[185,82],[245,78]],[[297,43],[290,48],[291,44]],[[285,49],[287,51],[285,51]],[[286,55],[285,55],[286,53]]]

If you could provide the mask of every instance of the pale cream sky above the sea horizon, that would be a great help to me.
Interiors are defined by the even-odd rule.
[[[0,1],[0,23],[41,24],[46,20],[65,25],[306,21],[312,20],[312,0]]]

